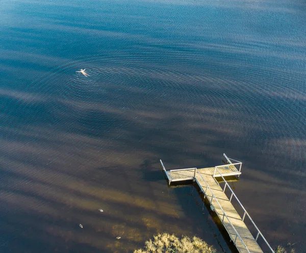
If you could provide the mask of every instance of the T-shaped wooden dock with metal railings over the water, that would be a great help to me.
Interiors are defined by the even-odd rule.
[[[175,169],[175,170],[166,170],[162,160],[161,166],[164,170],[164,173],[167,177],[169,185],[171,182],[180,182],[192,180],[195,182],[202,193],[204,193],[205,198],[209,200],[211,209],[216,212],[221,223],[225,227],[228,235],[231,240],[237,247],[238,251],[241,253],[263,253],[264,251],[258,244],[258,238],[261,236],[269,248],[268,252],[273,252],[273,249],[266,241],[262,233],[259,231],[256,224],[253,222],[249,214],[246,212],[236,194],[233,192],[232,188],[226,182],[226,176],[239,176],[241,174],[242,163],[228,158],[225,154],[223,156],[226,158],[226,165],[210,167],[210,168],[187,168],[187,169]],[[234,163],[233,163],[233,162]],[[225,185],[223,189],[220,184],[216,181],[215,178],[221,178]],[[225,190],[230,190],[230,198],[225,194]],[[243,216],[241,217],[232,204],[232,200],[236,198],[242,210],[244,211]],[[254,237],[248,227],[246,226],[244,219],[249,218],[253,224],[253,227],[257,230],[257,235]]]

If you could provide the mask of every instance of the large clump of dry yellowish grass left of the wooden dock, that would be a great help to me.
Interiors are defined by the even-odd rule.
[[[167,233],[154,236],[153,240],[145,242],[144,249],[135,250],[134,253],[216,253],[216,250],[198,237],[182,239]]]

